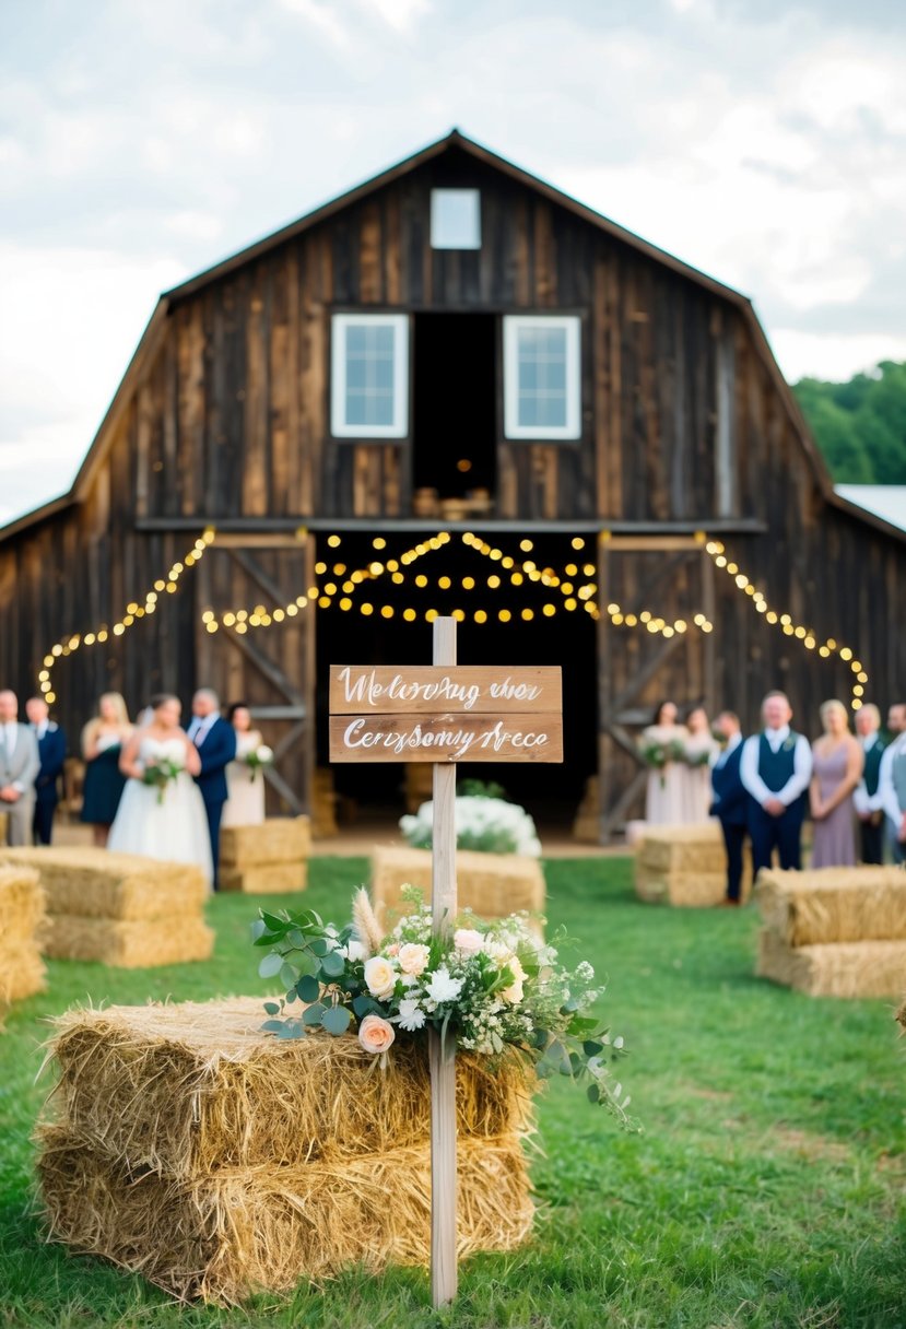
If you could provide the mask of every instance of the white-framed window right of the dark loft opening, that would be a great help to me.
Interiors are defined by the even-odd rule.
[[[578,439],[582,432],[579,320],[503,319],[503,431],[507,439]]]

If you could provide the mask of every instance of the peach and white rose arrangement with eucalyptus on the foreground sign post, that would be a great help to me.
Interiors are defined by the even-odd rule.
[[[381,1066],[397,1039],[433,1030],[466,1053],[525,1058],[541,1079],[587,1082],[591,1103],[636,1130],[628,1095],[611,1083],[610,1063],[626,1055],[623,1038],[590,1014],[604,991],[591,965],[565,968],[557,949],[530,930],[527,914],[486,921],[464,910],[449,936],[437,936],[421,893],[403,893],[414,909],[387,936],[364,889],[353,900],[353,922],[341,929],[314,910],[262,909],[252,924],[254,944],[267,948],[258,973],[286,987],[279,1002],[264,1002],[270,1019],[262,1029],[284,1039],[355,1031]]]

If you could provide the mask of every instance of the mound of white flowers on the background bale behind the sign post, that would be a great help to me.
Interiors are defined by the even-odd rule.
[[[535,824],[515,803],[501,797],[498,784],[464,780],[456,795],[456,847],[482,853],[522,853],[537,859],[541,840]],[[434,804],[422,803],[410,816],[400,817],[400,831],[413,849],[430,849]]]

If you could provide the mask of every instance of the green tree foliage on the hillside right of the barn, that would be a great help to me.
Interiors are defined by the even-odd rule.
[[[793,392],[837,484],[906,484],[906,363],[848,383],[800,379]]]

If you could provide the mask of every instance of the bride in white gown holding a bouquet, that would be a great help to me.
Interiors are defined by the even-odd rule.
[[[120,769],[129,780],[110,827],[108,849],[169,863],[194,863],[210,882],[214,877],[211,840],[205,803],[193,779],[201,771],[201,758],[179,728],[181,710],[177,696],[153,698],[150,723],[124,747]],[[145,784],[145,771],[163,760],[182,769],[161,791],[157,784]]]

